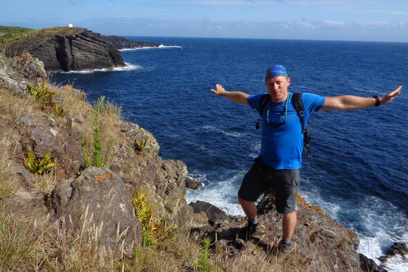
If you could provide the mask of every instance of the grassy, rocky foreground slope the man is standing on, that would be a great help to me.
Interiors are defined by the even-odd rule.
[[[49,103],[28,91],[28,84],[53,93]],[[26,266],[34,262],[37,271],[57,266],[69,271],[77,264],[83,271],[209,271],[203,270],[206,263],[212,271],[362,271],[358,236],[300,196],[295,247],[284,257],[272,250],[281,239],[281,215],[272,195],[259,203],[261,227],[248,240],[243,217],[227,216],[208,203],[189,206],[182,161],[163,161],[154,136],[122,120],[109,102],[92,107],[82,91],[46,84],[41,62],[30,55],[0,56],[0,98],[0,217],[10,228],[15,217],[24,218],[30,228],[10,237],[27,237],[41,247],[37,255],[24,255],[24,262],[14,261],[15,269],[5,262],[6,271],[34,271]],[[97,153],[102,165],[88,167],[87,156],[93,154],[95,163]],[[44,166],[46,156],[56,164],[52,171],[33,172],[33,161]],[[152,210],[148,233],[134,210],[135,196],[141,194]],[[189,235],[177,236],[175,228]],[[46,233],[40,235],[41,229]],[[4,237],[9,236],[0,235],[1,243]],[[153,244],[149,255],[153,249],[146,237],[170,237],[174,244]],[[204,237],[211,238],[211,257],[200,255]],[[105,262],[109,252],[120,256]],[[155,268],[137,270],[147,265]]]

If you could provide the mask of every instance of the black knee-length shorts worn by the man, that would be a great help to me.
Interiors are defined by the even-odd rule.
[[[256,158],[243,177],[238,196],[246,201],[257,201],[261,194],[272,189],[275,192],[277,212],[287,214],[295,211],[299,181],[299,170],[276,170]]]

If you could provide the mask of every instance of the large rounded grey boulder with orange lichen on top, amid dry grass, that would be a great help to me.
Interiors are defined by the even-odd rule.
[[[95,239],[102,248],[133,253],[141,244],[141,225],[124,182],[107,168],[89,167],[76,179],[59,183],[49,199],[51,221],[71,233]],[[84,234],[83,234],[84,233]]]

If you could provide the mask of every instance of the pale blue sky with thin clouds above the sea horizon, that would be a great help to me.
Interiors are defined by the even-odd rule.
[[[104,35],[408,42],[408,0],[0,0],[0,25]]]

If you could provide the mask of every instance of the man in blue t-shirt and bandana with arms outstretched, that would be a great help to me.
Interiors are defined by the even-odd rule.
[[[247,232],[252,235],[259,224],[255,201],[272,189],[275,192],[277,211],[283,215],[283,239],[279,251],[290,248],[290,239],[295,231],[297,216],[295,212],[296,193],[299,186],[299,169],[302,166],[304,131],[299,115],[293,105],[293,93],[288,91],[290,78],[282,65],[272,66],[266,71],[265,94],[249,95],[241,91],[225,91],[221,84],[211,89],[217,96],[223,96],[241,105],[250,105],[261,113],[261,152],[251,169],[245,174],[238,192],[238,201],[248,218]],[[391,102],[401,93],[402,87],[387,93],[381,98],[360,96],[322,97],[312,93],[302,93],[304,123],[314,111],[348,111],[378,107]],[[264,102],[267,101],[267,102]],[[261,104],[264,104],[261,108]]]

